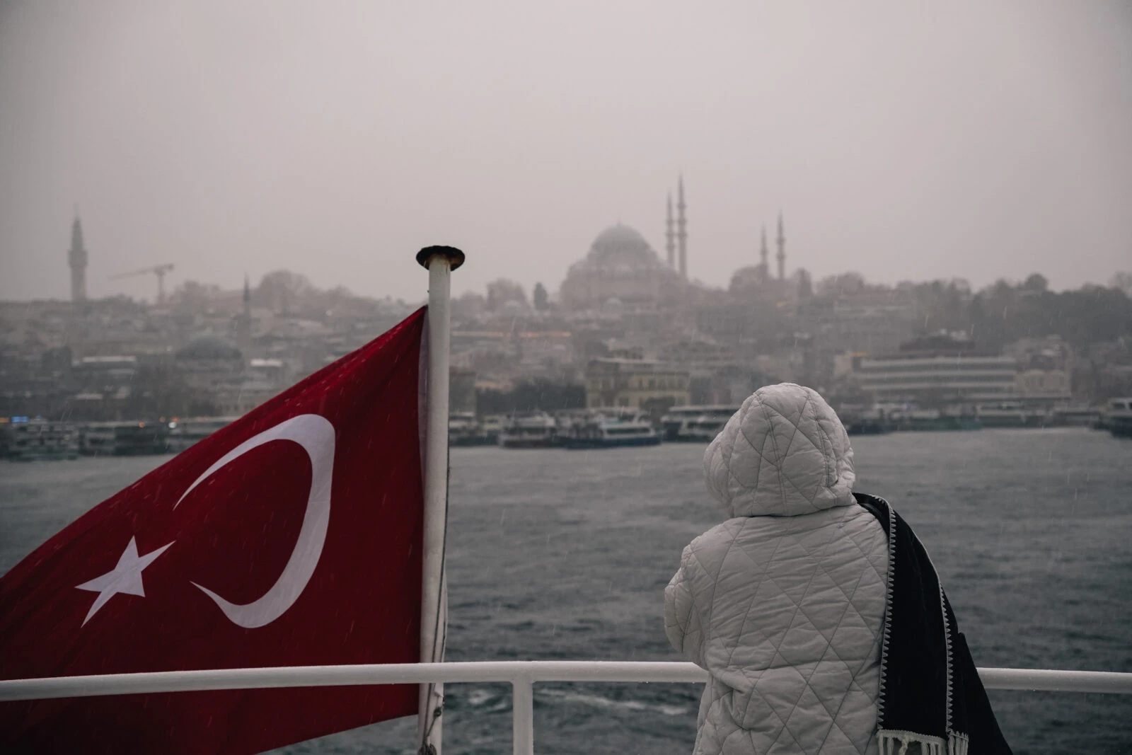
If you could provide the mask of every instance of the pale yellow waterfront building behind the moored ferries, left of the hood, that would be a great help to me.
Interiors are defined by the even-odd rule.
[[[594,359],[585,369],[589,409],[646,407],[652,401],[688,403],[691,375],[662,362],[644,359]]]

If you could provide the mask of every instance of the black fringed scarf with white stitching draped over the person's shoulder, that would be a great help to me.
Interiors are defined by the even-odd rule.
[[[924,546],[889,501],[855,492],[889,538],[876,719],[881,755],[1011,755]]]

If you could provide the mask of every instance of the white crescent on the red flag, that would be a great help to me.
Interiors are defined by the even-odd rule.
[[[232,623],[249,629],[271,624],[291,608],[318,565],[318,558],[323,554],[323,544],[326,542],[326,529],[331,521],[334,426],[319,414],[299,414],[280,422],[275,427],[248,438],[221,456],[215,464],[205,470],[204,474],[189,486],[177,504],[173,504],[173,508],[177,508],[194,488],[204,482],[216,470],[252,448],[272,440],[293,440],[302,446],[302,449],[310,457],[310,492],[307,496],[307,511],[302,517],[299,539],[294,544],[294,550],[291,551],[286,566],[283,567],[283,573],[258,600],[245,604],[232,603],[208,587],[196,582],[192,583],[212,598]]]

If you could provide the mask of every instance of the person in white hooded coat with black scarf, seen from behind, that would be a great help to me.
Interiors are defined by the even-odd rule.
[[[989,714],[986,695],[923,547],[885,501],[855,497],[829,404],[760,388],[707,447],[704,477],[727,521],[684,549],[664,591],[672,646],[711,675],[695,754],[967,753],[967,711]],[[889,675],[885,706],[890,652],[909,672]],[[989,715],[977,723],[997,744]]]

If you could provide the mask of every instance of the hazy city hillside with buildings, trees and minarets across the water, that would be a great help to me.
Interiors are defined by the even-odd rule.
[[[849,272],[814,281],[791,264],[779,215],[717,289],[687,277],[695,244],[683,179],[675,198],[660,208],[663,252],[616,224],[560,282],[528,291],[500,277],[456,297],[452,411],[482,419],[633,409],[659,423],[674,406],[737,406],[789,381],[817,387],[849,417],[914,406],[1052,424],[1132,394],[1132,274],[1061,292],[1040,273],[974,291],[962,278],[885,285]],[[71,299],[2,304],[0,415],[239,417],[421,303],[320,290],[282,269],[239,289],[188,281],[166,292],[173,271],[164,266],[132,273],[149,281],[153,301],[91,299],[97,255],[80,218],[71,231]],[[929,379],[940,358],[967,371]],[[669,376],[663,385],[658,371]],[[886,372],[906,379],[892,384]],[[1009,420],[996,417],[1003,409]]]

